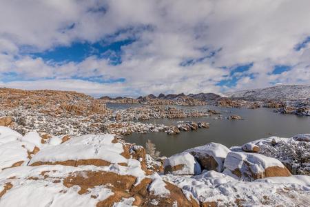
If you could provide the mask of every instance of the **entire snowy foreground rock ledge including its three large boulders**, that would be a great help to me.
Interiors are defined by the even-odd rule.
[[[114,135],[42,139],[34,131],[23,136],[0,126],[1,207],[309,203],[309,176],[291,175],[278,159],[241,148],[211,143],[189,149],[166,159],[162,175],[151,170],[160,161]],[[276,143],[281,144],[278,139]],[[264,152],[264,146],[256,145]],[[279,175],[285,177],[272,177]]]

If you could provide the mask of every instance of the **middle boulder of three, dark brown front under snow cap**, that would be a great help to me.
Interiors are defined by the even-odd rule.
[[[218,143],[209,143],[204,146],[185,150],[195,157],[203,170],[223,171],[223,164],[229,148]]]

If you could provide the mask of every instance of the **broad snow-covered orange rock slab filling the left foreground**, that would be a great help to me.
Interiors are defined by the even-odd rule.
[[[23,137],[0,128],[0,133],[14,137],[0,143],[1,207],[196,204],[180,188],[143,169],[144,148],[114,135],[83,135],[65,142],[51,136],[34,155],[39,150],[36,132]]]

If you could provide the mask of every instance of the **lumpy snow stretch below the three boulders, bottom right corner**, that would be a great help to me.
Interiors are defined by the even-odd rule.
[[[163,179],[181,188],[187,198],[194,197],[200,202],[216,201],[218,206],[237,206],[236,199],[244,200],[242,206],[263,206],[262,203],[267,199],[267,206],[304,206],[310,202],[310,189],[303,185],[273,184],[260,180],[238,181],[227,176],[221,178],[220,183],[216,182],[218,177],[200,175],[165,175]],[[278,178],[280,179],[282,177]]]

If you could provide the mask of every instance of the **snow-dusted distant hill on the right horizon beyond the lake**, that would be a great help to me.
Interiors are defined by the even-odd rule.
[[[227,96],[247,100],[298,100],[310,98],[310,86],[283,85],[254,90],[227,92]]]

